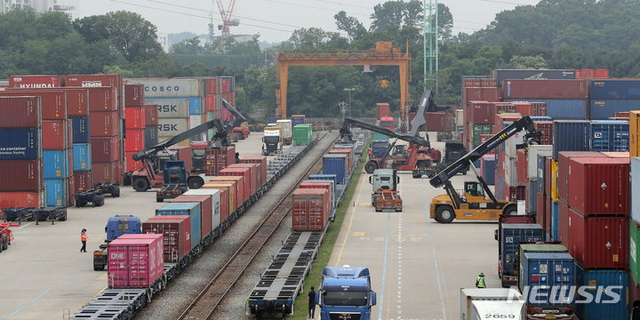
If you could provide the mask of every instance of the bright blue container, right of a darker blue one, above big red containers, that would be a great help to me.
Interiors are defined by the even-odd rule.
[[[628,121],[594,120],[591,122],[591,151],[628,152]]]

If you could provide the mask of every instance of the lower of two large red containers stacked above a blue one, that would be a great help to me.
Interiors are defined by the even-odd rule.
[[[628,268],[628,217],[584,217],[569,210],[569,253],[584,268]]]

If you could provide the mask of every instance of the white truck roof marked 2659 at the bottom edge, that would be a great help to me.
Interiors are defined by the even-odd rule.
[[[460,289],[460,320],[526,319],[524,297],[515,289]]]

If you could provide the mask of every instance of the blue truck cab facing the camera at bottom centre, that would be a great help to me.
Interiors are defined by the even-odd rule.
[[[370,320],[376,293],[369,268],[324,267],[316,304],[321,320]]]

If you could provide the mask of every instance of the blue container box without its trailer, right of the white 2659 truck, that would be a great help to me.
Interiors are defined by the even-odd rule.
[[[520,257],[520,276],[520,292],[527,297],[527,307],[574,305],[570,289],[575,281],[575,262],[571,254],[524,252],[524,257]],[[537,294],[531,294],[533,290]]]

